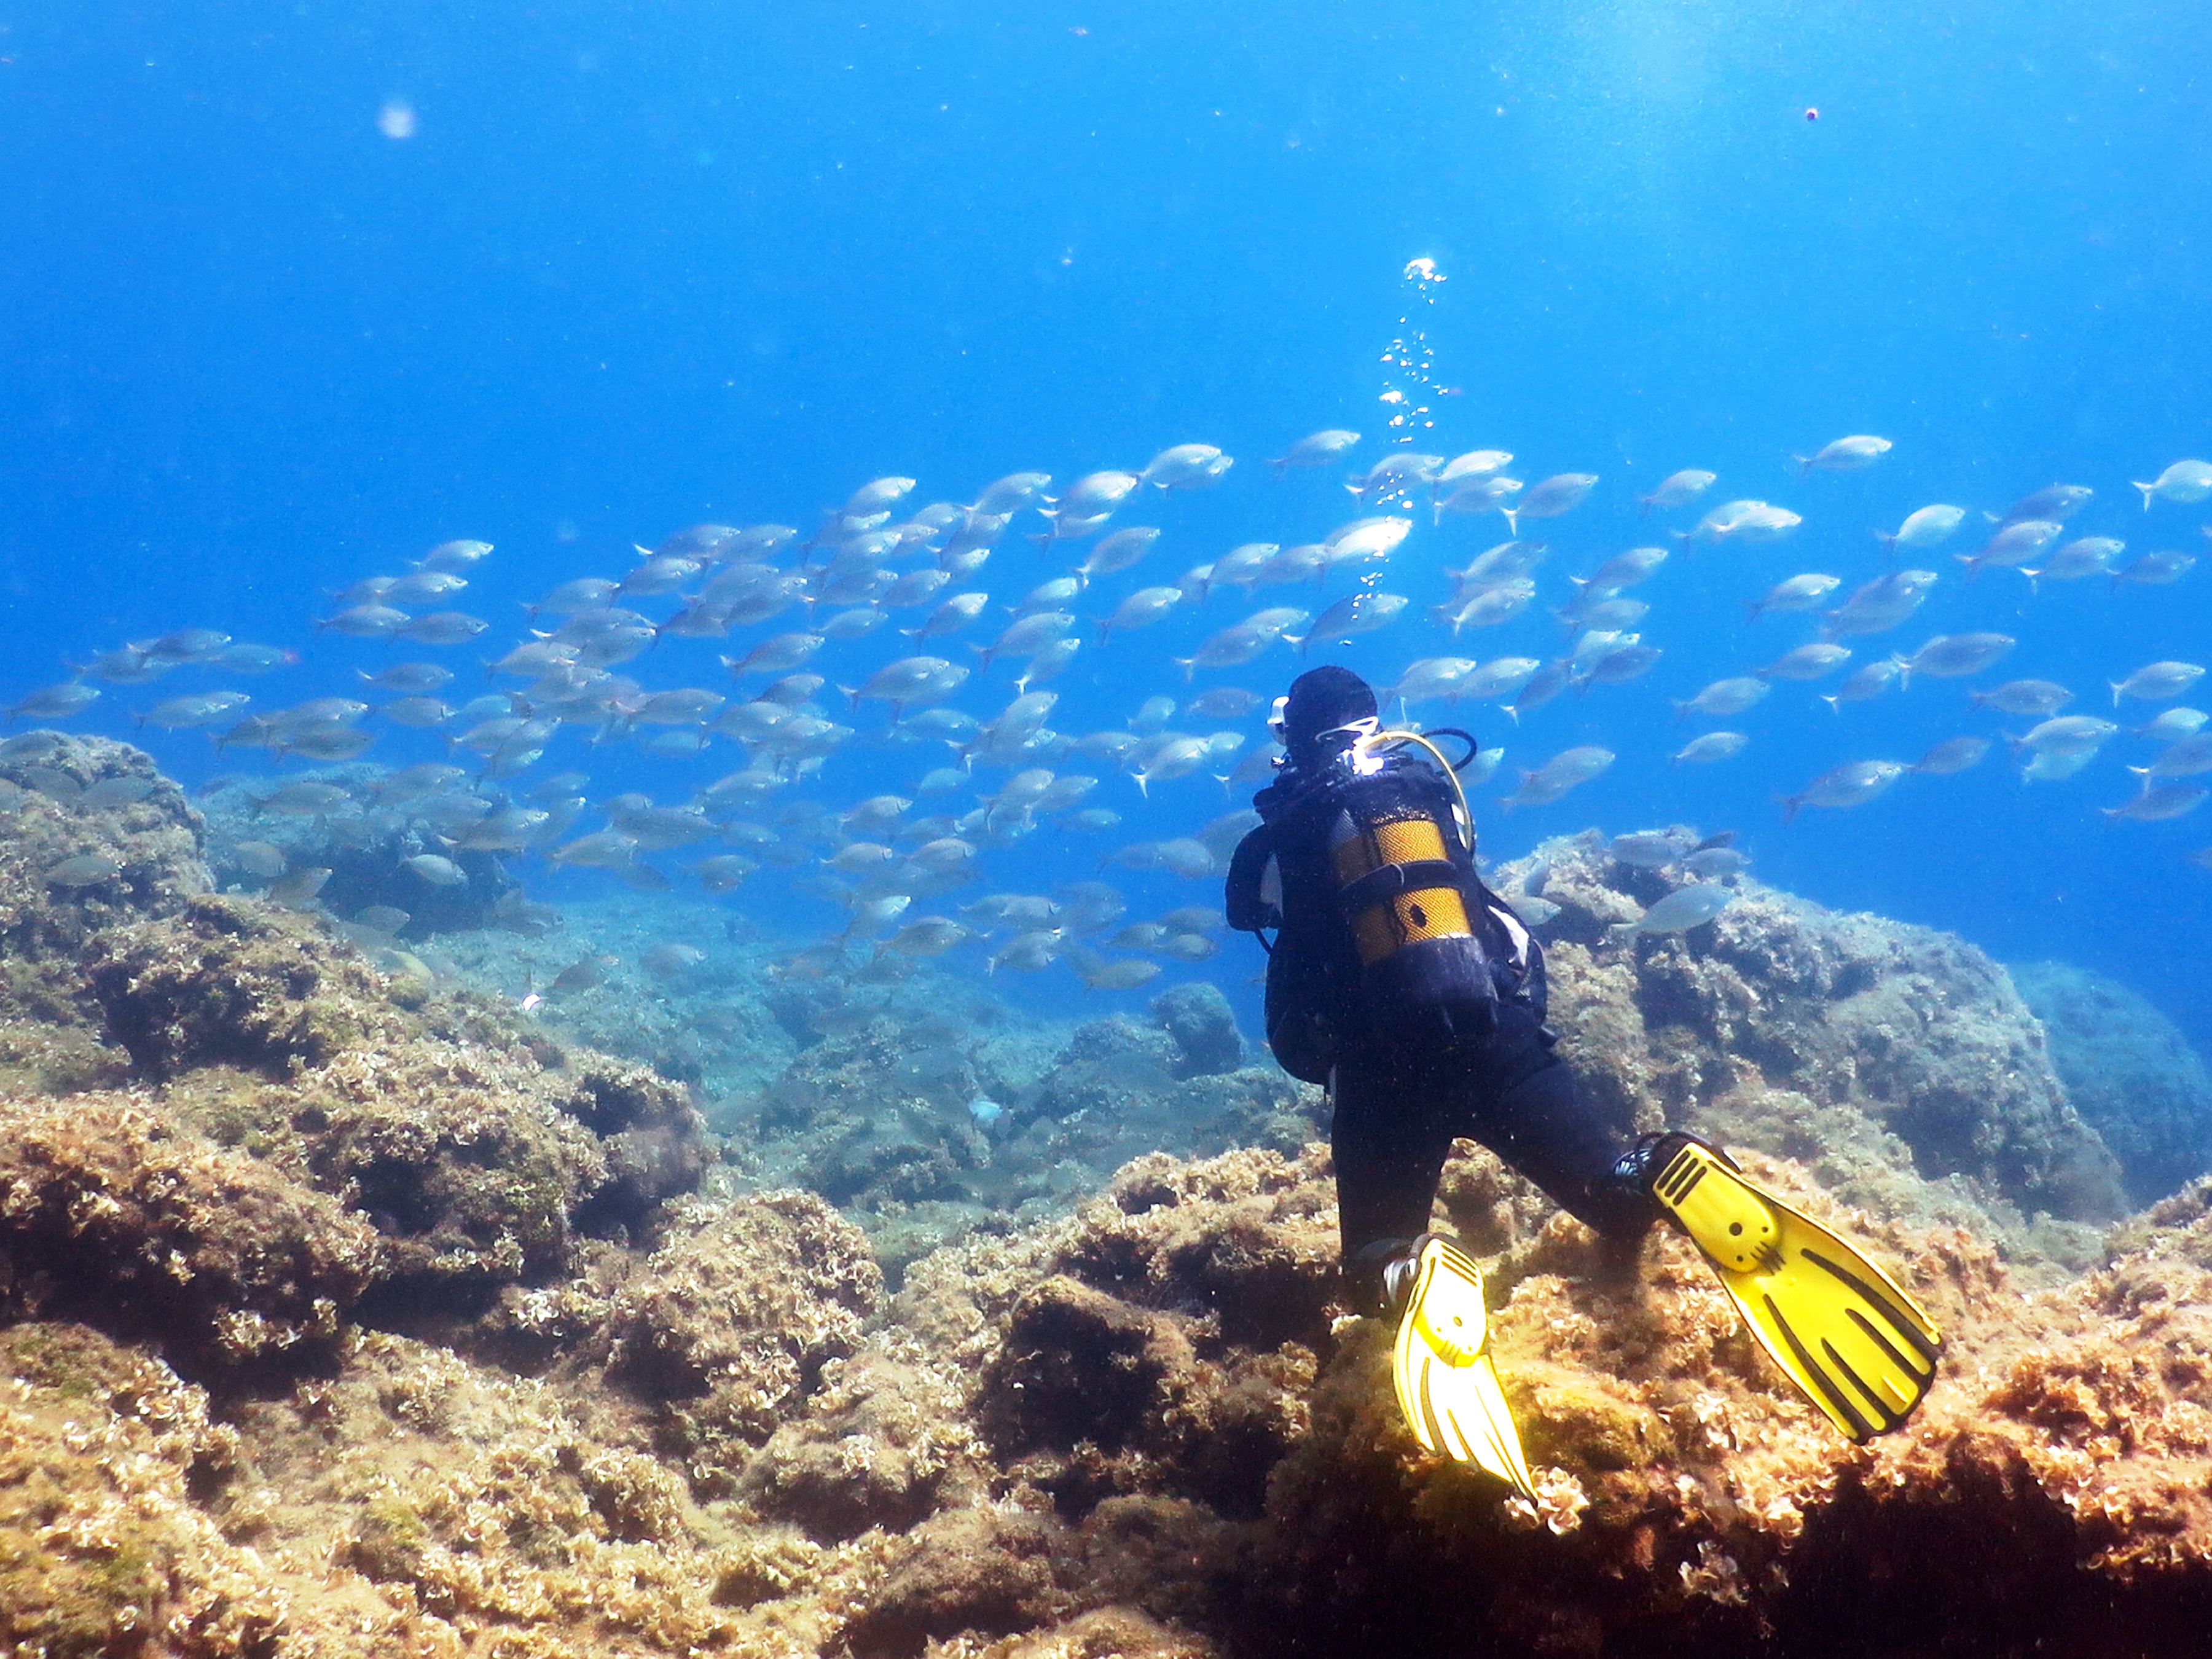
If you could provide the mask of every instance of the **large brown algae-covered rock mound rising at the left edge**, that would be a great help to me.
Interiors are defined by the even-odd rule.
[[[42,754],[137,776],[122,745]],[[13,900],[15,1011],[46,1011],[29,1024],[91,1057],[64,1086],[106,1086],[27,1130],[20,1155],[51,1159],[13,1170],[20,1214],[0,1230],[0,1274],[24,1307],[51,1298],[104,1329],[153,1332],[199,1374],[325,1340],[334,1310],[469,1318],[502,1285],[564,1274],[580,1239],[644,1232],[697,1188],[706,1137],[681,1086],[571,1060],[511,1009],[387,978],[319,916],[208,894],[173,794],[159,783],[117,810],[122,832],[102,830],[144,843],[115,843],[144,876],[113,876],[113,902],[102,883]],[[82,830],[44,792],[13,801],[0,854],[46,858]],[[22,995],[33,982],[38,1002]],[[71,1135],[77,1121],[91,1128]],[[95,1248],[62,1250],[66,1272],[44,1287],[77,1232]]]

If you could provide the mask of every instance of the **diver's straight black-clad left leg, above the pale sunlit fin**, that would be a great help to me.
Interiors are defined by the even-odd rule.
[[[1338,1066],[1329,1097],[1345,1281],[1356,1303],[1383,1307],[1383,1267],[1429,1230],[1451,1128],[1427,1091],[1391,1068]]]

